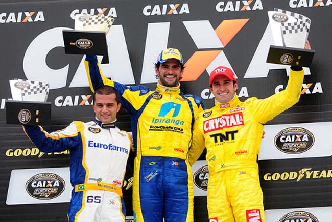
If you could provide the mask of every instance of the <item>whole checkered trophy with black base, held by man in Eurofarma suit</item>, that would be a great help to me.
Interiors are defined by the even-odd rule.
[[[51,103],[46,102],[50,85],[25,79],[9,80],[12,100],[6,101],[7,124],[51,123]]]

